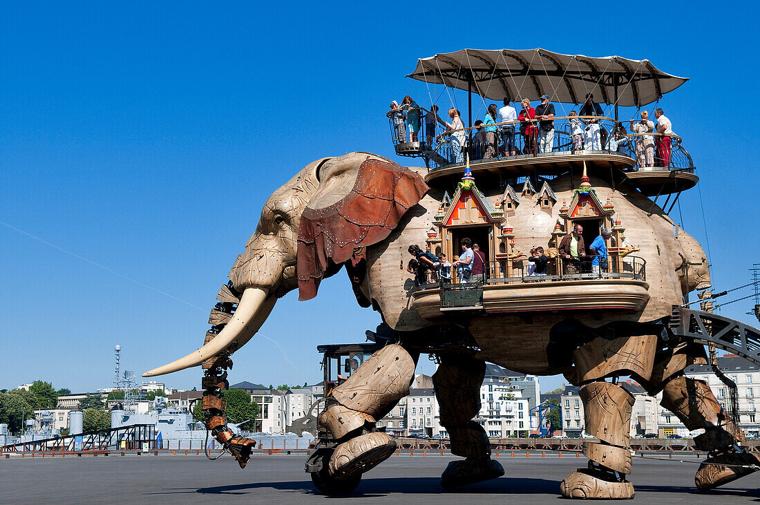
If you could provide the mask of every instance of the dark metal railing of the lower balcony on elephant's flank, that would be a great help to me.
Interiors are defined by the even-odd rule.
[[[580,261],[563,260],[560,257],[552,258],[546,264],[546,274],[536,274],[529,269],[530,261],[512,260],[511,268],[507,260],[486,261],[483,263],[483,274],[470,276],[469,279],[461,279],[460,273],[454,267],[451,270],[451,279],[443,278],[440,273],[433,273],[432,283],[420,286],[421,289],[430,289],[444,284],[470,284],[483,285],[515,284],[523,282],[547,282],[568,280],[593,280],[593,279],[635,279],[646,280],[646,260],[637,256],[608,256],[607,268],[602,269],[594,264],[594,257],[587,256]],[[603,263],[603,262],[602,262]]]

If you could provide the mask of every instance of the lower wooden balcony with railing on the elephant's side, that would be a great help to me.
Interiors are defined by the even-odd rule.
[[[645,261],[639,257],[609,258],[608,271],[562,273],[562,261],[549,264],[546,276],[528,276],[527,261],[507,270],[505,262],[484,264],[483,282],[431,283],[412,293],[412,308],[426,319],[446,314],[507,314],[556,311],[637,312],[649,301]]]

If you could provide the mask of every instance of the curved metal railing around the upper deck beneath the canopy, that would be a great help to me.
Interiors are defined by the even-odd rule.
[[[420,120],[411,124],[409,112],[419,112]],[[496,123],[456,131],[464,136],[464,147],[456,140],[454,131],[445,131],[441,123],[426,122],[426,109],[396,109],[388,112],[391,139],[397,154],[423,156],[430,170],[451,168],[464,164],[469,156],[476,165],[493,160],[538,158],[541,156],[588,153],[616,153],[633,160],[628,169],[694,171],[689,152],[682,139],[670,135],[670,158],[667,150],[657,149],[659,133],[632,133],[626,123],[604,116],[558,116],[553,118],[552,137],[541,142],[539,120]],[[412,115],[413,119],[416,117]],[[547,123],[547,122],[544,122]],[[495,131],[494,131],[495,130]],[[663,156],[660,156],[662,154]]]

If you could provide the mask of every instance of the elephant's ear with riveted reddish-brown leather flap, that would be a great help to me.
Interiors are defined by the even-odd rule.
[[[387,238],[429,189],[410,169],[366,153],[331,159],[318,177],[298,230],[299,300],[314,298],[322,277]]]

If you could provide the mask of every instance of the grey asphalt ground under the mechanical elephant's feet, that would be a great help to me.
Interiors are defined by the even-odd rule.
[[[83,456],[0,459],[0,503],[567,503],[559,482],[587,459],[499,457],[505,476],[446,491],[448,456],[391,456],[350,497],[318,494],[303,455],[256,455],[245,469],[229,456]],[[691,461],[697,461],[691,459]],[[694,463],[635,459],[636,503],[760,502],[760,472],[700,493]]]

